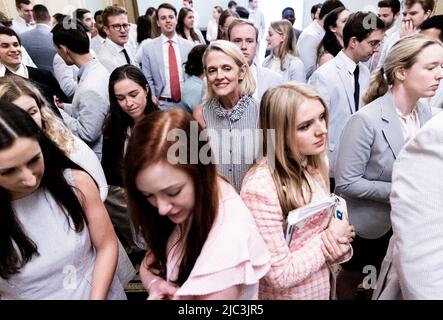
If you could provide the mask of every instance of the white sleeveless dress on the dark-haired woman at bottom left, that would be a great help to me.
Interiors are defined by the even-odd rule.
[[[68,183],[72,181],[70,170],[65,176]],[[86,224],[77,233],[44,188],[13,201],[12,207],[24,232],[37,245],[39,255],[9,280],[0,278],[0,299],[89,299],[96,252]],[[117,275],[107,298],[126,300]]]

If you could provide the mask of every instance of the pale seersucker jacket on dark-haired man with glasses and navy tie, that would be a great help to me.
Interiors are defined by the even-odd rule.
[[[363,92],[369,86],[369,70],[359,63],[360,75],[360,104]],[[315,87],[326,102],[329,111],[328,148],[329,148],[329,175],[334,177],[337,150],[340,134],[351,115],[356,111],[354,102],[354,84],[348,74],[345,61],[339,53],[334,59],[320,66],[309,79],[309,84]]]

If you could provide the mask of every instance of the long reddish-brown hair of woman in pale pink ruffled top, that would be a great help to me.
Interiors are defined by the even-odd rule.
[[[186,134],[186,155],[187,163],[178,163],[175,166],[186,172],[193,180],[195,188],[195,207],[192,212],[192,219],[189,219],[189,231],[185,239],[183,260],[180,263],[177,284],[182,285],[194,267],[201,249],[208,237],[209,231],[217,216],[218,210],[218,187],[217,169],[213,162],[205,164],[198,156],[200,152],[211,155],[207,152],[207,141],[191,141],[191,128],[198,126],[198,133],[202,132],[202,127],[190,114],[182,109],[170,109],[167,111],[156,111],[147,115],[138,122],[132,131],[129,139],[125,157],[125,188],[128,194],[128,208],[133,218],[136,230],[141,233],[148,245],[151,259],[147,266],[151,272],[158,270],[158,275],[166,277],[167,263],[167,242],[175,227],[175,224],[167,217],[161,216],[158,209],[152,206],[146,197],[137,189],[135,180],[137,175],[144,168],[167,161],[168,151],[176,144],[183,141],[170,141],[167,139],[168,133],[172,130],[179,130]],[[197,150],[194,150],[193,143],[198,143]],[[197,163],[192,152],[197,153]]]

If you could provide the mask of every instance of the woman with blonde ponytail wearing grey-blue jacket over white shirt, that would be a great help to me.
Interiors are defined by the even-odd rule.
[[[442,64],[440,41],[421,35],[399,40],[373,75],[364,96],[368,105],[343,129],[335,190],[346,199],[357,233],[354,256],[343,265],[343,281],[338,283],[344,299],[354,298],[365,266],[380,271],[392,235],[392,168],[404,144],[432,117],[419,99],[435,94],[443,78]]]

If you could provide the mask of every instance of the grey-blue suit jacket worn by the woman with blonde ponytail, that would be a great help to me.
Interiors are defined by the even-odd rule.
[[[431,117],[417,103],[420,126]],[[350,224],[366,239],[391,228],[389,195],[392,167],[405,144],[391,91],[352,115],[340,137],[335,162],[335,192],[347,203]]]

